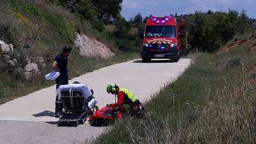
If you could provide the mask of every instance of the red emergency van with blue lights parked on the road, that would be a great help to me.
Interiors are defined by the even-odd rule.
[[[150,62],[152,59],[170,59],[179,61],[180,54],[187,50],[186,20],[177,20],[174,15],[154,17],[150,15],[147,20],[142,61]]]

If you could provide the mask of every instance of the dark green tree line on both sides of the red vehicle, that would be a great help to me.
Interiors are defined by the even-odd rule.
[[[51,0],[61,4],[70,12],[76,13],[81,19],[89,20],[93,28],[104,31],[104,25],[116,26],[114,33],[108,34],[116,41],[121,51],[140,51],[145,22],[140,13],[130,20],[120,15],[122,0]],[[237,33],[246,33],[255,28],[255,19],[250,19],[245,10],[228,12],[195,12],[189,15],[175,14],[177,21],[186,19],[188,22],[189,51],[214,52],[220,49]],[[138,28],[138,35],[129,35],[132,27]],[[134,42],[132,42],[134,41]]]

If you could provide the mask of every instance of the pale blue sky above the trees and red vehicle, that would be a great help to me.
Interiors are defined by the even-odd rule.
[[[129,20],[138,13],[143,17],[148,15],[161,17],[208,10],[227,12],[228,9],[238,12],[246,10],[249,17],[256,18],[256,0],[123,0],[121,14]]]

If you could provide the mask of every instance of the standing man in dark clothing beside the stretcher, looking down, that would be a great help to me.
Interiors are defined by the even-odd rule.
[[[60,76],[55,79],[56,81],[56,89],[59,88],[60,85],[68,84],[68,56],[72,51],[72,47],[65,46],[63,47],[63,51],[61,54],[58,54],[54,58],[54,62],[52,63],[52,68],[54,71],[60,72]],[[63,110],[62,101],[58,100],[58,94],[56,95],[56,102],[55,102],[55,117],[60,117]]]

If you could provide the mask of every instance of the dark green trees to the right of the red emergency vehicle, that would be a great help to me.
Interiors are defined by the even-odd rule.
[[[190,51],[214,52],[236,34],[255,31],[255,19],[250,19],[245,10],[228,12],[195,12],[181,15],[177,20],[188,22],[188,43]]]

